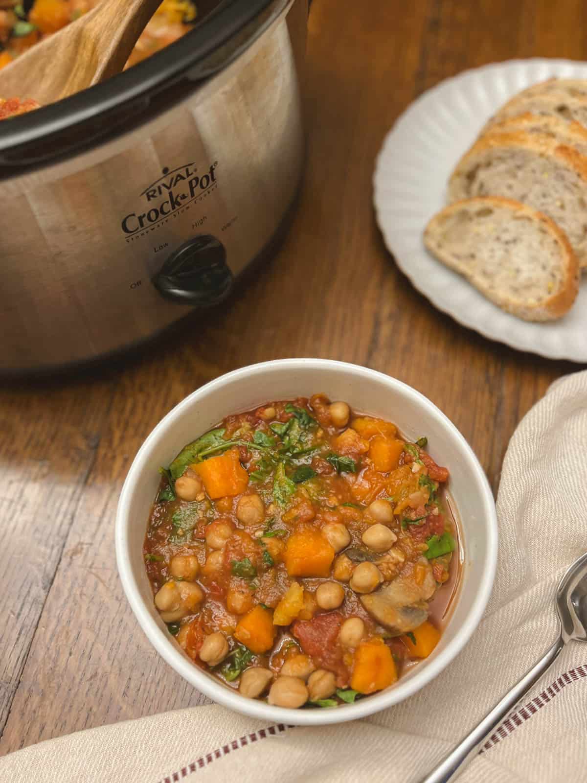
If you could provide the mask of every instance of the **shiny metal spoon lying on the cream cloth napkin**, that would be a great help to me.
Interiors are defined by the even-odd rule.
[[[448,783],[459,777],[465,767],[495,728],[528,693],[556,660],[567,641],[587,641],[587,553],[574,561],[560,580],[556,590],[556,612],[560,620],[560,635],[543,658],[522,677],[520,682],[506,693],[491,713],[477,723],[454,750],[441,761],[434,772],[422,778],[420,783]]]

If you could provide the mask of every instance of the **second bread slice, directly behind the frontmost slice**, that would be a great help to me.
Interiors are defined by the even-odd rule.
[[[502,196],[552,218],[587,268],[587,157],[548,135],[516,131],[484,135],[461,158],[448,182],[448,202]]]

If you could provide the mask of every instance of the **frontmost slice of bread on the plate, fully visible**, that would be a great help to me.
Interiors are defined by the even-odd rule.
[[[567,237],[546,215],[518,201],[457,201],[430,220],[424,244],[518,318],[560,318],[577,296],[578,262]]]

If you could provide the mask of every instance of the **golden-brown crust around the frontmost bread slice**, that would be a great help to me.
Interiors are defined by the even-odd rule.
[[[512,211],[512,215],[524,215],[531,218],[531,220],[540,222],[560,247],[561,261],[565,270],[564,284],[560,286],[560,289],[556,291],[556,294],[553,294],[552,297],[541,302],[539,305],[521,305],[516,301],[497,301],[488,291],[475,285],[473,280],[471,280],[471,276],[467,275],[466,271],[463,271],[463,269],[459,269],[456,264],[452,263],[452,259],[449,258],[447,254],[443,254],[442,251],[439,251],[436,246],[435,235],[441,230],[442,225],[447,218],[463,209],[463,207],[477,209],[492,206],[506,207]],[[528,207],[527,204],[521,204],[519,201],[500,196],[477,196],[455,201],[430,219],[426,229],[424,229],[424,244],[427,249],[434,254],[439,261],[448,266],[449,269],[459,272],[459,274],[469,280],[477,290],[481,291],[481,294],[484,294],[484,296],[493,301],[495,305],[498,305],[506,312],[510,312],[513,316],[517,316],[518,318],[528,321],[549,321],[560,318],[571,309],[574,300],[577,297],[580,275],[578,258],[574,253],[566,234],[547,215],[544,215],[542,212],[539,212],[532,207]]]

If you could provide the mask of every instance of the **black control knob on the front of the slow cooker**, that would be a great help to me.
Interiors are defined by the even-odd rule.
[[[153,285],[182,305],[217,305],[232,287],[224,245],[211,234],[194,236],[167,258]]]

